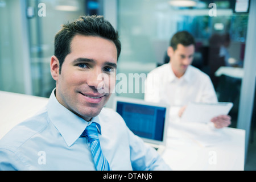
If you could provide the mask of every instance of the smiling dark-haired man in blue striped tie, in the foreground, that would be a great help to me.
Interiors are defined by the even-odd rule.
[[[115,84],[118,33],[102,16],[82,16],[55,36],[47,106],[0,140],[0,170],[168,170],[104,105]]]

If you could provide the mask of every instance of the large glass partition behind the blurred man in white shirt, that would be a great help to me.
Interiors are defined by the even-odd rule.
[[[119,0],[122,53],[118,73],[125,74],[127,80],[129,76],[133,81],[140,79],[140,92],[121,89],[117,95],[143,99],[144,75],[170,61],[166,51],[172,35],[187,30],[196,40],[192,65],[210,76],[218,101],[234,103],[230,115],[236,127],[248,13],[236,13],[233,1],[214,1],[213,5],[209,1],[184,7],[173,6],[167,0]],[[127,81],[127,88],[134,86],[133,81]]]

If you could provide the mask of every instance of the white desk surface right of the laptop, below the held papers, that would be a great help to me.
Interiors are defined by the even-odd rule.
[[[173,170],[244,169],[245,130],[171,123],[162,157]]]

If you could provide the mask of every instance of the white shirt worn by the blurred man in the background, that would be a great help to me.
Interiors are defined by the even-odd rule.
[[[217,102],[217,96],[209,76],[199,69],[189,65],[185,74],[177,78],[167,63],[148,73],[144,100],[184,106],[188,102]]]

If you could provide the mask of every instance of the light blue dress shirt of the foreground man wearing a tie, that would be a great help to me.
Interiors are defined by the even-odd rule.
[[[99,123],[102,152],[113,170],[168,170],[158,153],[134,135],[122,117],[103,108]],[[34,117],[0,140],[1,170],[95,170],[85,137],[89,122],[61,105],[54,94]]]

